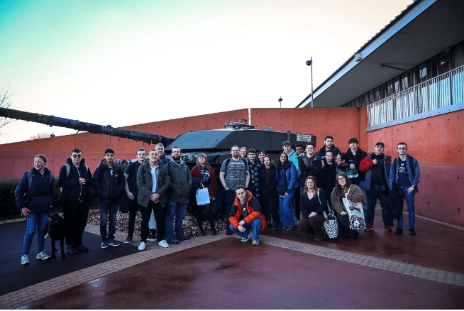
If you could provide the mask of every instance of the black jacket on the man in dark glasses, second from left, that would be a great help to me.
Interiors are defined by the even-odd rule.
[[[90,193],[90,186],[92,186],[92,173],[87,165],[84,165],[85,160],[82,158],[79,168],[72,164],[72,159],[67,158],[67,165],[70,167],[70,174],[67,175],[67,165],[60,168],[60,175],[58,176],[58,184],[60,185],[61,195],[60,202],[64,203],[68,200],[92,200]],[[85,185],[79,185],[79,178],[85,178]]]

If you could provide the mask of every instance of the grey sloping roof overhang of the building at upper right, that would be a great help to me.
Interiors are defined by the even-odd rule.
[[[463,29],[464,1],[414,1],[314,89],[314,107],[340,107],[350,102],[460,43]],[[362,59],[356,62],[358,53]],[[311,94],[297,105],[307,107],[311,107]]]

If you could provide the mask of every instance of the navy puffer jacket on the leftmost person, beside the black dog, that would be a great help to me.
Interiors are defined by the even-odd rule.
[[[24,173],[14,192],[16,205],[20,209],[27,207],[33,213],[49,212],[50,207],[53,206],[52,195],[55,186],[53,173],[45,168],[42,175],[33,168],[30,171],[32,179],[29,187],[28,172]]]

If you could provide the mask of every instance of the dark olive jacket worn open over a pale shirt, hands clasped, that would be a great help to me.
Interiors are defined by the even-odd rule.
[[[166,206],[166,192],[170,186],[169,175],[167,169],[158,163],[158,179],[156,180],[156,190],[153,192],[153,176],[151,175],[150,163],[143,163],[137,171],[137,185],[138,185],[138,204],[148,207],[150,197],[153,193],[160,195],[161,207]]]

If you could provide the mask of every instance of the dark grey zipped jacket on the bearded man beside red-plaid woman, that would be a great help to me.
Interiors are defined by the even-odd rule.
[[[171,159],[165,168],[167,168],[170,180],[167,202],[189,203],[192,175],[190,175],[187,164],[182,159],[180,159],[180,163]]]

